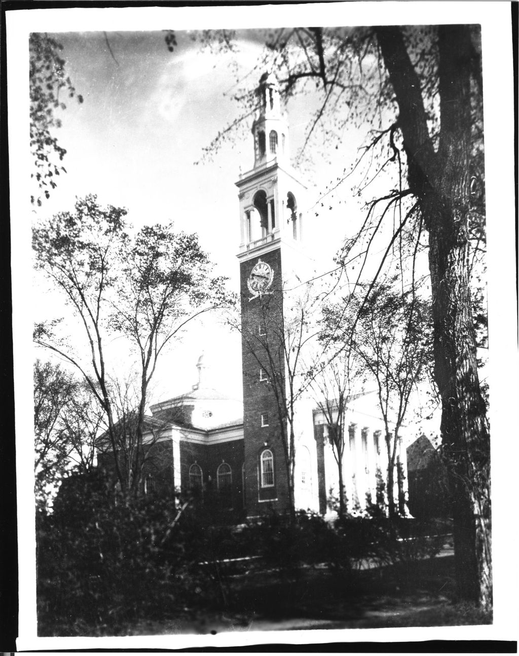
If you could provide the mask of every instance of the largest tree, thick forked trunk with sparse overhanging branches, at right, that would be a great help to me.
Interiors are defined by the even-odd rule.
[[[304,147],[319,130],[327,144],[337,138],[337,148],[352,123],[367,132],[359,160],[350,171],[345,163],[343,178],[325,195],[362,167],[356,194],[375,177],[381,180],[381,172],[388,176],[387,193],[369,203],[360,231],[344,250],[346,261],[358,248],[356,257],[363,261],[358,280],[375,236],[386,239],[386,247],[373,285],[399,242],[413,243],[415,256],[427,249],[434,380],[455,487],[457,586],[461,597],[488,606],[489,428],[478,379],[469,264],[474,237],[481,243],[484,234],[480,28],[281,29],[266,33],[266,46],[270,57],[264,65],[276,70],[285,96],[306,91],[322,98]],[[245,97],[244,114],[251,96]],[[220,141],[228,134],[222,131]]]

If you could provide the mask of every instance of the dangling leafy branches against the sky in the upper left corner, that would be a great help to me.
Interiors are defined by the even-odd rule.
[[[30,147],[36,172],[31,174],[45,198],[49,189],[56,188],[56,176],[66,173],[59,163],[66,150],[58,144],[51,131],[61,127],[56,110],[66,109],[63,97],[83,96],[66,77],[65,60],[60,56],[63,47],[45,33],[31,33],[29,37],[29,83],[30,83]],[[31,195],[31,203],[41,205],[41,197]]]

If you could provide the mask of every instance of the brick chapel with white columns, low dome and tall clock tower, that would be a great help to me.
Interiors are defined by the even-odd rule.
[[[253,167],[236,182],[243,403],[209,384],[201,356],[196,384],[152,405],[150,426],[155,422],[156,430],[150,428],[147,437],[156,455],[146,462],[144,492],[192,495],[197,512],[215,522],[238,523],[289,508],[285,340],[291,313],[304,302],[304,282],[314,273],[304,242],[308,186],[289,163],[287,115],[272,73],[262,75],[256,94]],[[327,422],[316,405],[309,397],[294,404],[294,504],[326,514],[339,477]],[[369,496],[375,499],[377,470],[385,476],[387,466],[375,394],[351,398],[344,426],[348,510],[362,511]],[[107,457],[100,458],[102,466]],[[405,472],[402,444],[398,462]],[[395,484],[402,487],[404,478]]]

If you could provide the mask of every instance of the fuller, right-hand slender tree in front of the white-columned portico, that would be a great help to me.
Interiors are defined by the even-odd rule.
[[[335,347],[339,362],[343,359],[348,369],[363,371],[363,383],[373,382],[377,389],[385,428],[390,515],[397,508],[404,512],[402,500],[396,504],[393,491],[394,480],[402,482],[395,471],[400,428],[413,390],[432,365],[430,306],[415,287],[403,291],[396,284],[395,279],[377,283],[366,297],[351,294],[325,306],[321,334],[325,346]],[[337,364],[332,371],[334,367]]]

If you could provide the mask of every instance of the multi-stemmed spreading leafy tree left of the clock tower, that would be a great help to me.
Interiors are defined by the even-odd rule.
[[[135,422],[131,459],[121,466],[114,458],[115,474],[127,494],[140,487],[144,411],[157,360],[190,321],[222,306],[226,296],[224,281],[211,277],[196,236],[177,234],[170,224],[146,226],[130,237],[125,215],[124,209],[100,207],[95,196],[87,196],[76,202],[75,213],[60,213],[35,227],[33,249],[37,268],[62,293],[83,334],[83,341],[72,344],[60,336],[59,321],[52,321],[35,327],[35,342],[81,372],[106,415],[114,455],[120,451],[121,426]],[[124,404],[117,415],[106,361],[112,353],[107,344],[115,337],[127,339],[138,360],[131,417]]]

